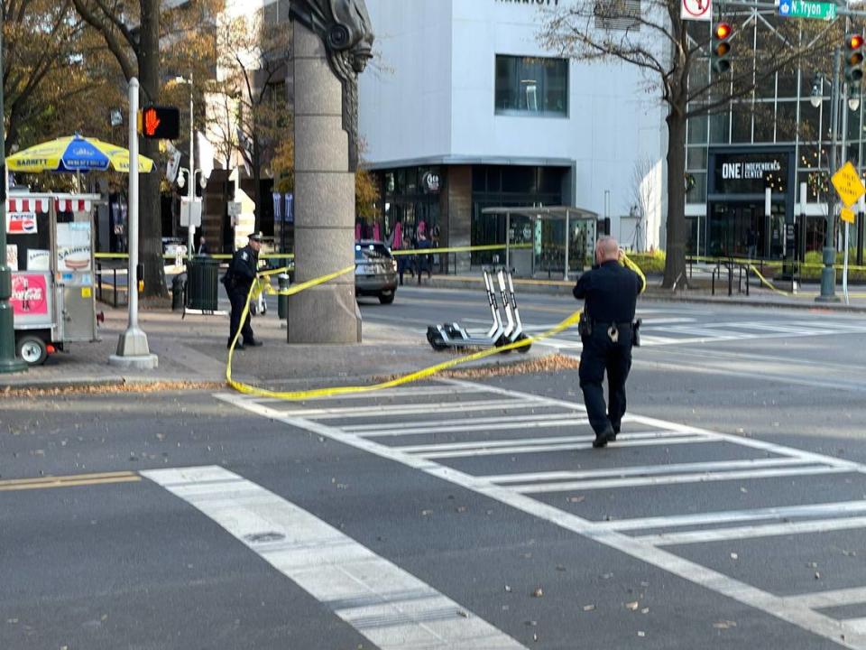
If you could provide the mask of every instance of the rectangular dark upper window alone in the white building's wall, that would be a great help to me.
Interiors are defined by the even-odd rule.
[[[568,115],[568,61],[496,55],[496,115]]]

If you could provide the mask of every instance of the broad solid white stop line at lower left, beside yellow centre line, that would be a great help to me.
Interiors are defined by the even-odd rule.
[[[142,472],[382,650],[525,646],[317,516],[216,466]]]

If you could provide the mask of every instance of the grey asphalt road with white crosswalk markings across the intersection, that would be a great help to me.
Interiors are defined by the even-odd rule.
[[[477,292],[362,311],[484,329]],[[0,648],[866,648],[866,320],[640,315],[606,450],[574,371],[5,398]]]

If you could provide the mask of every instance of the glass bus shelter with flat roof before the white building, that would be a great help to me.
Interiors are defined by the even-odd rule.
[[[505,219],[505,265],[522,277],[580,273],[592,265],[598,214],[575,206],[484,208]]]

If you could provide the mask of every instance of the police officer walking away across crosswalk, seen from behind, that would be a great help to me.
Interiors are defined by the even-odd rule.
[[[595,244],[595,265],[577,279],[574,289],[575,298],[585,301],[579,325],[584,349],[578,375],[589,423],[595,432],[595,448],[616,440],[620,432],[631,346],[638,343],[640,327],[634,322],[635,302],[646,288],[647,281],[640,268],[624,255],[616,239],[599,238]],[[602,388],[605,370],[607,407]]]

